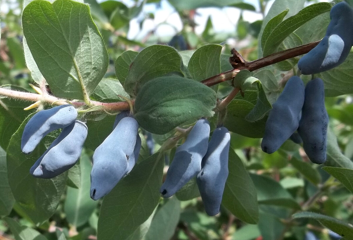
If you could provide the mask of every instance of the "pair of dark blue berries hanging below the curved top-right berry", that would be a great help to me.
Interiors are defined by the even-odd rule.
[[[295,131],[296,142],[303,142],[309,159],[322,164],[326,160],[328,115],[324,102],[324,83],[315,78],[306,84],[298,76],[290,78],[273,104],[265,125],[261,147],[273,153]]]

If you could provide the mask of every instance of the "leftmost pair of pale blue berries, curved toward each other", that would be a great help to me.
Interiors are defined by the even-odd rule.
[[[39,111],[28,121],[21,141],[25,154],[33,152],[48,133],[62,128],[58,138],[31,167],[34,177],[54,178],[76,164],[88,134],[86,124],[76,118],[76,109],[66,104]]]

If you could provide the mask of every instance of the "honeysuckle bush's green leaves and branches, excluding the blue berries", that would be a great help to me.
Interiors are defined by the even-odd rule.
[[[327,240],[331,229],[353,239],[352,52],[340,66],[315,74],[324,81],[330,117],[324,165],[312,164],[289,140],[273,154],[260,148],[271,104],[297,74],[300,55],[325,35],[329,11],[339,1],[276,0],[263,20],[240,18],[229,36],[215,33],[211,19],[197,36],[188,14],[198,7],[254,6],[240,0],[169,2],[185,20],[178,39],[187,50],[181,42],[177,49],[151,45],[157,43],[153,34],[147,42],[124,37],[146,1],[127,7],[111,0],[25,0],[21,16],[1,16],[2,233],[16,240],[304,240],[311,230]],[[259,3],[264,13],[267,1]],[[249,45],[231,51],[219,44],[229,37]],[[67,103],[89,129],[79,163],[53,179],[34,178],[30,167],[60,131],[25,155],[24,126],[37,109]],[[142,136],[138,163],[93,201],[93,151],[112,131],[115,115],[129,109]],[[195,179],[171,198],[159,192],[164,166],[201,117],[211,130],[223,125],[232,132],[229,176],[214,217],[205,214]],[[152,155],[146,132],[155,142]]]

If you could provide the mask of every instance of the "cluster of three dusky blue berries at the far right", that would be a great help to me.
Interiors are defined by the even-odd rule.
[[[316,74],[337,67],[346,60],[353,45],[353,9],[340,2],[330,11],[325,37],[298,62],[302,74]],[[287,140],[303,142],[309,159],[326,160],[328,115],[324,103],[324,83],[315,78],[304,89],[298,76],[290,78],[273,104],[262,140],[262,150],[273,153]],[[295,132],[297,131],[297,132]]]

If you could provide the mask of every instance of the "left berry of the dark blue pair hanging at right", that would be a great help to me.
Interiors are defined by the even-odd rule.
[[[265,153],[275,152],[297,130],[303,103],[303,81],[292,76],[268,115],[261,143]]]

